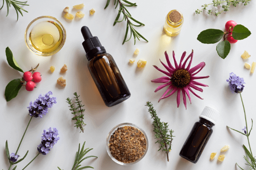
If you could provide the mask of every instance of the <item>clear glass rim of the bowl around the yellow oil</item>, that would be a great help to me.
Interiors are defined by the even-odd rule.
[[[58,46],[58,48],[56,48],[54,51],[51,51],[49,53],[46,52],[41,52],[38,51],[37,49],[35,49],[30,40],[29,40],[29,34],[32,31],[32,29],[34,28],[34,26],[42,21],[53,21],[55,23],[57,23],[62,32],[63,32],[63,38],[61,40],[61,44]],[[55,53],[57,53],[58,51],[61,50],[61,48],[63,47],[64,43],[66,41],[66,29],[64,28],[64,26],[61,24],[61,22],[59,20],[57,20],[55,17],[50,17],[50,16],[41,16],[36,18],[35,20],[32,20],[31,23],[29,23],[29,25],[26,28],[26,32],[25,32],[25,42],[26,42],[26,46],[29,48],[30,51],[32,51],[34,54],[37,54],[39,56],[51,56]]]

